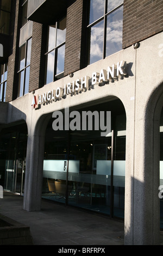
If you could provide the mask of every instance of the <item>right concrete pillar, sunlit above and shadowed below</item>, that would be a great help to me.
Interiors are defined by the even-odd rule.
[[[149,100],[142,112],[140,109],[135,112],[134,137],[129,135],[130,131],[127,133],[130,137],[126,150],[125,245],[160,244],[158,188],[161,98],[155,106],[157,100],[152,97],[153,101]]]

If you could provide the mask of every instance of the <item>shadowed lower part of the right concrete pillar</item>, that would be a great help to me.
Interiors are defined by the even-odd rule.
[[[130,217],[126,214],[124,223],[124,244],[160,245],[163,240],[161,241],[160,236],[159,190],[153,191],[150,182],[147,185],[146,182],[133,178],[131,178],[131,182],[131,186],[134,187],[134,189],[132,188],[133,198],[131,202],[127,202],[126,198],[126,204],[130,204],[128,207],[131,209]],[[159,188],[159,184],[157,188]]]

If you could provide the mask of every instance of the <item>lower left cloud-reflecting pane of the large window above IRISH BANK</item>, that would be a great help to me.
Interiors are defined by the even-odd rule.
[[[97,25],[91,27],[89,64],[97,62],[103,58],[103,33],[104,21],[98,22]]]

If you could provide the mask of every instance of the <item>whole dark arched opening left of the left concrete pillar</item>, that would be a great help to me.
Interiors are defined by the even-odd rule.
[[[24,122],[1,130],[0,182],[4,190],[24,193],[27,139],[27,125]]]

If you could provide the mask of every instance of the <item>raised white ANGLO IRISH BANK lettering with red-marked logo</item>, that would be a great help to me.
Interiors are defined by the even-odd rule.
[[[102,69],[99,73],[93,72],[91,77],[84,76],[69,82],[65,84],[64,88],[58,87],[57,89],[49,90],[41,95],[34,95],[32,107],[39,109],[41,105],[45,105],[46,103],[66,99],[67,95],[77,95],[90,90],[92,87],[104,86],[109,82],[118,81],[118,78],[122,79],[123,76],[127,75],[126,65],[126,62],[121,60],[121,62],[118,62],[116,65],[108,66],[107,70]]]

